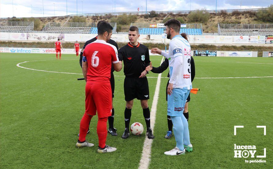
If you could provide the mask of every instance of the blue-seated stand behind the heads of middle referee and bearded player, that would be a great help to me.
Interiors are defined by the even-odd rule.
[[[139,29],[140,34],[148,35],[160,35],[166,32],[165,28],[150,28],[148,23],[131,23],[131,26],[136,26]],[[188,35],[202,35],[202,24],[184,24],[185,28],[180,29],[180,33],[186,33]]]

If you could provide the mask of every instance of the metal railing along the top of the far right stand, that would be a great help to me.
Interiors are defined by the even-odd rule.
[[[273,24],[219,24],[219,29],[273,29]],[[221,33],[221,32],[220,32]]]

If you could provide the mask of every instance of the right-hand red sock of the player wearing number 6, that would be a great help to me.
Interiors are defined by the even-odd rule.
[[[108,120],[108,117],[98,118],[98,125],[97,125],[98,146],[101,148],[104,148],[106,145],[107,120]]]

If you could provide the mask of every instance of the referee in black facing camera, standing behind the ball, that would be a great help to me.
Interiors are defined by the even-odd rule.
[[[131,119],[131,111],[134,99],[140,100],[143,109],[143,116],[147,126],[146,135],[149,139],[153,139],[152,129],[150,125],[150,109],[148,107],[149,86],[145,68],[150,65],[149,50],[146,46],[137,42],[139,31],[136,26],[129,28],[129,41],[118,51],[118,58],[124,61],[124,95],[126,107],[124,111],[125,131],[121,136],[123,139],[129,137],[129,124]]]

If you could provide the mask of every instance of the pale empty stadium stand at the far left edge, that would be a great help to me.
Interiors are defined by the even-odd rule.
[[[0,22],[0,32],[31,32],[34,29],[34,22]]]

